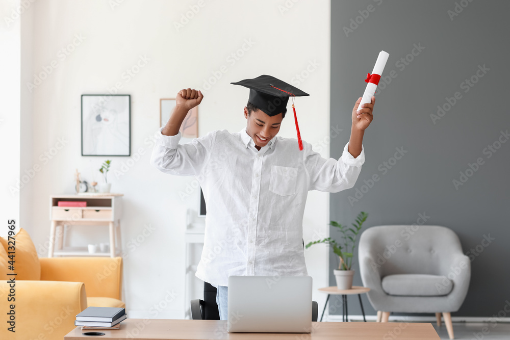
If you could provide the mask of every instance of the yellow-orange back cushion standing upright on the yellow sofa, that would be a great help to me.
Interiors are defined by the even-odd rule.
[[[8,251],[8,236],[0,238],[3,248]],[[27,230],[20,228],[15,238],[14,273],[17,280],[40,280],[41,265],[34,243]]]

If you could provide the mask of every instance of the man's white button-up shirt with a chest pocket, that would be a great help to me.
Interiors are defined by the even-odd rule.
[[[303,213],[309,190],[352,188],[365,162],[345,145],[337,161],[303,141],[274,137],[259,150],[246,128],[217,130],[179,144],[181,133],[159,130],[151,164],[172,175],[195,176],[206,201],[206,229],[196,277],[213,286],[231,275],[308,275]]]

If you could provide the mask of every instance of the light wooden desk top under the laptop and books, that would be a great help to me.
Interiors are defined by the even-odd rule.
[[[87,336],[81,327],[70,331],[64,340],[78,339],[335,339],[371,340],[398,338],[406,340],[440,340],[430,323],[375,323],[375,322],[312,322],[312,333],[228,333],[226,321],[216,320],[166,320],[166,319],[126,319],[120,329],[94,330],[102,336]]]

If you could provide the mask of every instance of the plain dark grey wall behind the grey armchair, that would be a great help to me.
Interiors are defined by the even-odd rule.
[[[456,3],[460,13],[450,19],[448,11],[455,13]],[[359,11],[369,5],[373,11],[361,22]],[[393,70],[396,76],[377,92],[374,120],[363,141],[366,162],[354,188],[331,194],[330,218],[350,224],[365,211],[366,229],[417,223],[419,214],[425,214],[425,224],[454,230],[465,253],[478,246],[467,298],[453,316],[490,317],[510,299],[510,141],[501,137],[506,143],[498,142],[501,131],[510,131],[509,12],[510,2],[502,0],[331,2],[331,126],[344,132],[331,141],[332,157],[340,157],[349,139],[352,107],[380,50],[390,54],[383,75]],[[343,28],[356,17],[361,23],[346,35]],[[420,44],[424,49],[410,55]],[[406,56],[407,65],[399,61]],[[483,65],[489,70],[466,92],[462,83],[476,77]],[[455,92],[462,97],[457,94],[460,99],[432,122],[430,114],[437,114],[438,105]],[[493,144],[499,147],[495,152],[488,149]],[[390,169],[384,162],[397,147],[406,153]],[[460,172],[477,159],[483,164],[455,188],[453,180],[460,181]],[[380,179],[362,188],[374,174]],[[348,198],[356,189],[366,193],[351,203]],[[481,247],[489,235],[494,240]],[[337,231],[331,229],[331,236]],[[333,270],[338,261],[330,254]],[[362,285],[357,259],[354,284]],[[330,285],[335,285],[332,273]],[[349,301],[349,315],[361,315],[358,299]],[[367,314],[374,314],[368,299],[363,301]],[[341,307],[334,309],[330,313],[341,314]]]

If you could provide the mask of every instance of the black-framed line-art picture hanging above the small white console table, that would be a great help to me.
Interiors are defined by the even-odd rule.
[[[131,155],[131,96],[82,94],[82,156]]]

